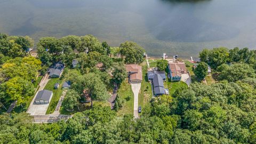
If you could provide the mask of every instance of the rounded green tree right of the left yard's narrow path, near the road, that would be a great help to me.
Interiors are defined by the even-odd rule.
[[[63,99],[62,105],[63,108],[73,111],[74,107],[78,107],[78,99],[80,98],[79,94],[74,90],[67,91],[65,98]]]

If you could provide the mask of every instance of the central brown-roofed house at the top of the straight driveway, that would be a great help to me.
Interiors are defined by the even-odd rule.
[[[129,83],[141,83],[142,81],[142,70],[139,65],[125,65],[126,72],[129,77]]]

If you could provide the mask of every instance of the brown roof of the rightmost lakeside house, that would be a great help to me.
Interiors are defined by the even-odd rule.
[[[169,62],[169,69],[172,74],[172,77],[179,76],[181,77],[181,74],[188,73],[185,62]]]

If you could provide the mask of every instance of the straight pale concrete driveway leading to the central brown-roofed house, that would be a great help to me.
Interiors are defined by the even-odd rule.
[[[132,91],[134,94],[134,103],[133,103],[133,116],[134,118],[139,118],[138,105],[139,105],[139,92],[141,83],[132,83]]]

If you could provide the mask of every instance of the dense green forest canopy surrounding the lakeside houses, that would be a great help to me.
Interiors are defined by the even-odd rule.
[[[0,35],[3,103],[18,100],[22,105],[26,99],[23,95],[33,94],[34,90],[28,89],[33,86],[27,86],[31,79],[44,74],[54,62],[62,60],[71,65],[74,58],[79,61],[82,75],[66,76],[74,84],[70,97],[77,97],[83,92],[81,87],[86,87],[95,100],[105,99],[107,88],[99,90],[99,85],[107,86],[108,81],[100,73],[114,67],[113,81],[118,83],[125,78],[123,63],[144,60],[142,47],[125,42],[115,48],[125,59],[116,62],[109,57],[113,48],[91,35],[41,38],[36,59],[27,57],[26,49],[31,45],[28,39]],[[88,54],[84,53],[85,47]],[[218,47],[204,49],[199,58],[211,66],[217,82],[205,85],[198,81],[179,87],[172,95],[153,98],[138,119],[133,115],[117,116],[107,106],[93,106],[75,113],[66,122],[51,124],[35,124],[33,117],[24,112],[3,113],[0,143],[256,143],[256,51]],[[101,71],[95,70],[99,62],[103,63]],[[204,77],[198,71],[196,76]],[[67,108],[75,105],[67,104]]]

